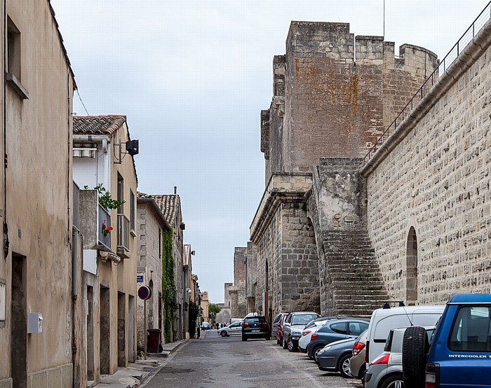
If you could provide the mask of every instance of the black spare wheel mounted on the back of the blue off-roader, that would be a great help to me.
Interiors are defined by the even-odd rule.
[[[405,329],[403,337],[403,379],[406,387],[424,387],[428,349],[428,336],[424,328],[411,326]]]

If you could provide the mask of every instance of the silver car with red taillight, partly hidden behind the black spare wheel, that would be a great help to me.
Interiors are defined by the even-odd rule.
[[[408,328],[396,328],[387,337],[384,352],[370,363],[365,375],[365,388],[404,388],[403,381],[403,338]],[[425,326],[426,336],[431,342],[435,326]]]

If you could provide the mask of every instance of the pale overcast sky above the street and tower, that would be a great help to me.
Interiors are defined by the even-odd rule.
[[[386,0],[385,40],[443,58],[487,0]],[[182,203],[193,272],[213,303],[234,281],[264,191],[260,110],[291,20],[384,32],[383,0],[51,0],[90,115],[125,114],[139,187]],[[79,97],[74,111],[85,115]]]

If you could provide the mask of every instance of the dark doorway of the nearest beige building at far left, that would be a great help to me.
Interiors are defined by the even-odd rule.
[[[11,376],[13,387],[27,387],[26,257],[12,254]]]

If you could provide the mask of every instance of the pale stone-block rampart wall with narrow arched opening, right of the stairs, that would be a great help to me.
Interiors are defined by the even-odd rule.
[[[391,298],[406,298],[411,227],[419,303],[491,292],[491,49],[480,47],[368,176],[369,230]]]

